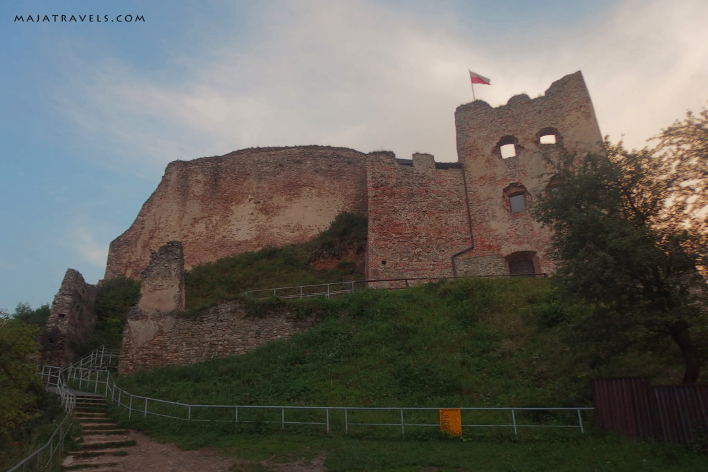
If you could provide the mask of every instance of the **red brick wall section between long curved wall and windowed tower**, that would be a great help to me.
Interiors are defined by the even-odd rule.
[[[471,245],[459,165],[369,154],[367,201],[367,278],[453,275],[452,255]]]

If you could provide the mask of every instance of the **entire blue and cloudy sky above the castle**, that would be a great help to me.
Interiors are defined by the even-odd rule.
[[[54,14],[94,21],[15,21]],[[455,161],[468,68],[494,106],[581,70],[602,132],[644,146],[707,103],[706,18],[704,0],[5,0],[0,309],[51,303],[68,267],[101,279],[176,159],[323,144]]]

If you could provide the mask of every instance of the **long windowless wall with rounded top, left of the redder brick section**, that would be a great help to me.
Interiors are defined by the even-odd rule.
[[[108,252],[105,278],[137,278],[151,251],[181,241],[185,267],[302,243],[341,212],[366,211],[365,155],[327,146],[261,148],[175,161]]]

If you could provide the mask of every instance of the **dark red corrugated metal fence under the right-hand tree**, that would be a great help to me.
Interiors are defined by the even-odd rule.
[[[688,443],[708,431],[708,385],[651,386],[644,377],[592,382],[595,423],[628,437]]]

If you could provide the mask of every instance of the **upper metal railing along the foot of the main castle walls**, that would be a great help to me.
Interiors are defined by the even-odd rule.
[[[547,277],[547,274],[480,275],[479,277]],[[309,297],[330,298],[341,294],[351,294],[357,290],[367,288],[397,290],[426,284],[428,282],[440,282],[442,280],[462,278],[469,277],[406,277],[403,279],[350,280],[349,282],[329,282],[326,284],[294,285],[292,287],[249,290],[243,292],[242,295],[253,297],[254,300],[265,300],[272,297],[280,299],[303,299]]]

